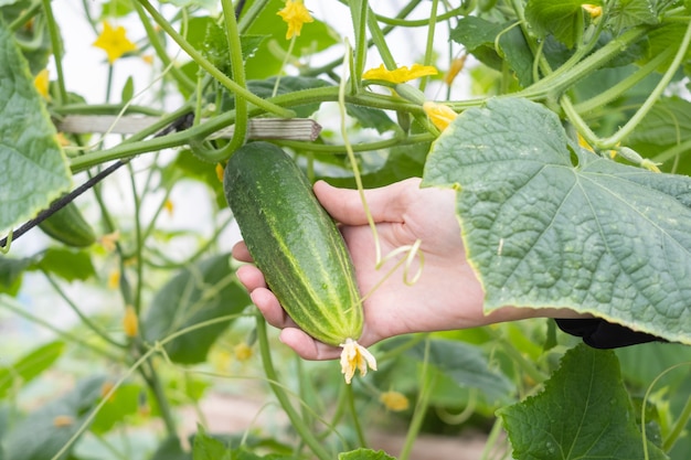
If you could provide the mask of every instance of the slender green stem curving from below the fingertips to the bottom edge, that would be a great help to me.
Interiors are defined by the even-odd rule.
[[[276,368],[274,367],[274,363],[272,361],[272,352],[268,343],[268,335],[266,332],[266,322],[264,318],[259,313],[256,314],[256,327],[257,327],[257,341],[259,342],[259,354],[262,355],[262,363],[264,365],[264,373],[268,381],[276,399],[283,407],[284,411],[290,419],[293,429],[297,431],[300,436],[300,439],[312,450],[315,456],[319,458],[319,460],[331,460],[333,457],[323,448],[319,439],[315,436],[310,427],[305,425],[304,420],[300,418],[300,415],[295,410],[293,404],[290,404],[290,399],[288,395],[284,391],[283,386],[278,383],[278,375],[276,374]]]

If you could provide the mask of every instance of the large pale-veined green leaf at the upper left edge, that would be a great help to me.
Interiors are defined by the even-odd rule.
[[[33,217],[70,189],[55,128],[14,35],[0,19],[0,232]]]

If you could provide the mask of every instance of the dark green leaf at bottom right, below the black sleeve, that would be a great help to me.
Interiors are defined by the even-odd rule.
[[[499,415],[513,458],[644,459],[642,435],[612,351],[578,345],[562,359],[544,391]],[[648,459],[667,456],[648,441]]]

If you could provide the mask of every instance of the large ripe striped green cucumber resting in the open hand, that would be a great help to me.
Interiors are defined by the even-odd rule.
[[[358,340],[363,315],[350,254],[295,161],[272,143],[247,143],[231,157],[223,189],[249,254],[296,324],[329,345]]]

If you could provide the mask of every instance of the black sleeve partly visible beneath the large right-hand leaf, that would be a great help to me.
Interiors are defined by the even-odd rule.
[[[665,342],[663,339],[645,332],[636,332],[600,318],[557,319],[555,321],[562,331],[583,338],[583,342],[594,349],[618,349],[639,343]]]

